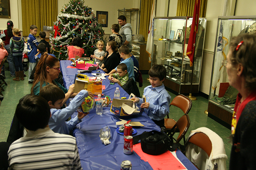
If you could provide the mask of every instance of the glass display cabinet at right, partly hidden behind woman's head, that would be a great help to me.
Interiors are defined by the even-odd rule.
[[[208,116],[227,128],[231,128],[233,110],[238,91],[229,85],[226,59],[229,42],[240,33],[256,33],[256,16],[219,16],[212,63]]]

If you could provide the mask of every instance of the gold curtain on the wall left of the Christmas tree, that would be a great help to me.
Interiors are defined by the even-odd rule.
[[[43,31],[43,26],[53,26],[57,20],[58,0],[21,0],[22,34],[28,36],[31,25],[38,28],[36,36]]]

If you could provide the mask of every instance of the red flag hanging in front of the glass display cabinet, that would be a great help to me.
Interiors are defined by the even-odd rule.
[[[200,0],[196,0],[191,30],[190,30],[189,39],[188,39],[188,47],[187,47],[187,55],[190,59],[190,67],[192,67],[194,53],[195,53],[195,43],[196,43],[196,33],[198,30],[199,11],[200,11]]]

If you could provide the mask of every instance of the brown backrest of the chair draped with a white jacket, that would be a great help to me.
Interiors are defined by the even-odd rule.
[[[202,132],[195,133],[194,135],[192,135],[189,138],[189,140],[187,141],[187,143],[185,145],[187,146],[189,142],[202,148],[207,153],[207,155],[210,157],[211,152],[212,152],[212,142],[207,135],[205,135]]]

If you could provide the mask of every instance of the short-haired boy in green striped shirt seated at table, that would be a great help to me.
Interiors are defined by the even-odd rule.
[[[120,63],[117,68],[117,73],[110,74],[108,79],[113,83],[117,83],[121,87],[128,81],[129,76],[127,72],[127,66],[124,63]]]

